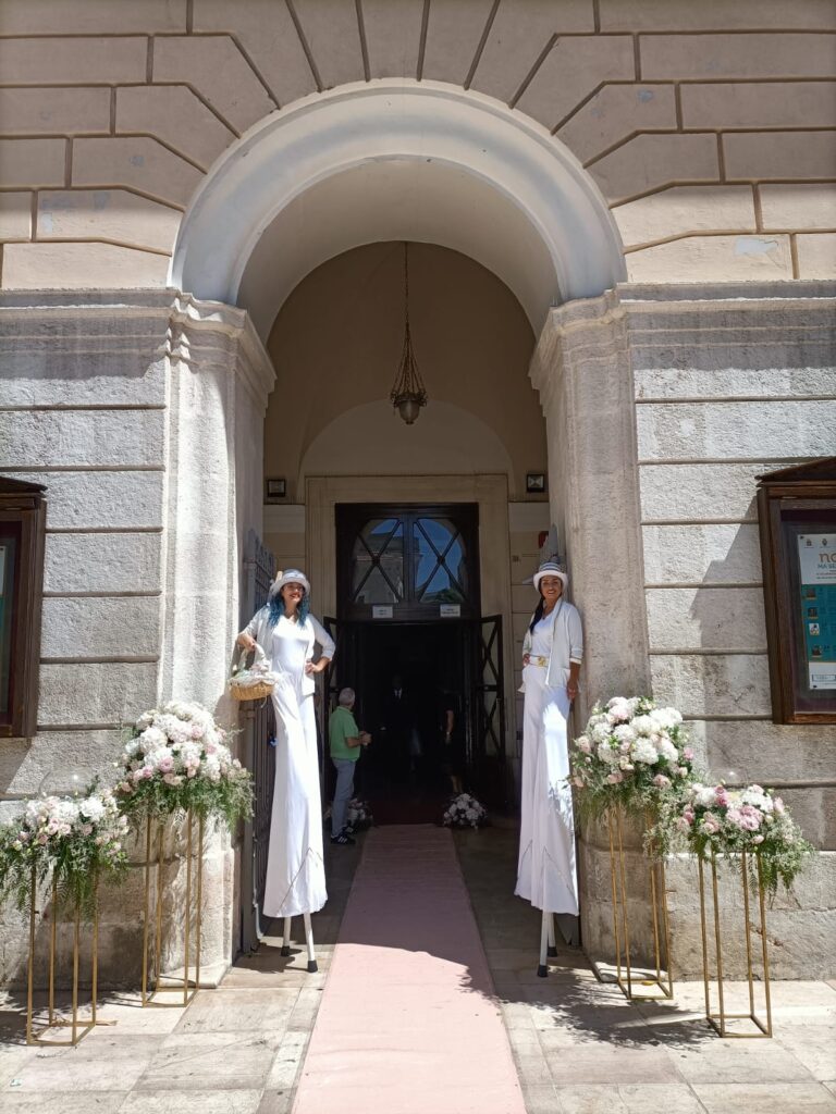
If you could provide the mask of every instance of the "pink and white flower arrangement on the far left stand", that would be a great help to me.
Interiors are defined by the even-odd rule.
[[[27,907],[32,869],[42,882],[51,872],[59,895],[89,912],[97,881],[127,868],[128,822],[110,790],[94,783],[76,797],[37,797],[0,828],[0,898]]]

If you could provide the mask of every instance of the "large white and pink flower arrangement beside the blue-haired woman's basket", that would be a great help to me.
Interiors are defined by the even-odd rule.
[[[230,827],[252,814],[252,778],[205,707],[169,701],[128,729],[116,792],[136,817],[194,812]]]

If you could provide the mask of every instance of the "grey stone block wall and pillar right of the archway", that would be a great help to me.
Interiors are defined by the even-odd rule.
[[[836,727],[771,722],[755,496],[764,472],[834,451],[835,295],[624,285],[553,311],[532,368],[589,644],[576,726],[595,698],[652,692],[680,709],[711,778],[780,792],[819,853],[769,913],[778,977],[833,970]],[[584,940],[604,958],[607,871],[605,836],[587,827]],[[677,968],[696,976],[692,864],[672,862],[669,883]]]

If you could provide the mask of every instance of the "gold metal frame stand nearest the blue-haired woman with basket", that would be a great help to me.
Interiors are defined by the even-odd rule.
[[[165,820],[154,820],[148,817],[145,827],[145,910],[143,917],[143,983],[142,983],[142,1000],[143,1006],[187,1006],[188,1003],[197,994],[197,989],[201,984],[201,928],[203,922],[203,830],[204,830],[204,818],[197,818],[197,878],[196,885],[193,887],[193,863],[192,863],[192,847],[194,840],[194,814],[188,811],[186,813],[186,901],[184,910],[184,922],[185,922],[185,939],[183,946],[183,975],[163,975],[161,970],[161,951],[163,945],[163,905],[164,905],[164,893],[163,893],[163,878],[164,878],[164,851],[165,851]],[[156,892],[156,910],[155,910],[155,929],[154,929],[154,962],[153,962],[153,978],[154,988],[148,990],[148,934],[150,928],[150,870],[152,870],[152,844],[154,828],[157,830],[157,892]],[[192,908],[193,892],[196,892],[194,909]],[[194,931],[194,945],[195,945],[195,956],[194,956],[194,979],[193,986],[189,989],[189,977],[188,973],[192,967],[192,919],[194,917],[195,931]],[[174,1000],[171,1001],[158,1001],[156,996],[162,991],[164,994],[169,991],[181,991]]]

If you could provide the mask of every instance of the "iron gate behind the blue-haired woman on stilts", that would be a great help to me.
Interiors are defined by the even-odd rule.
[[[261,544],[255,530],[246,538],[242,627],[268,602],[275,575],[275,558]],[[241,860],[241,949],[254,951],[261,938],[261,907],[268,876],[270,814],[273,805],[275,747],[270,746],[275,725],[273,702],[247,701],[241,704],[244,730],[244,765],[252,771],[255,800],[253,819],[244,824]]]

